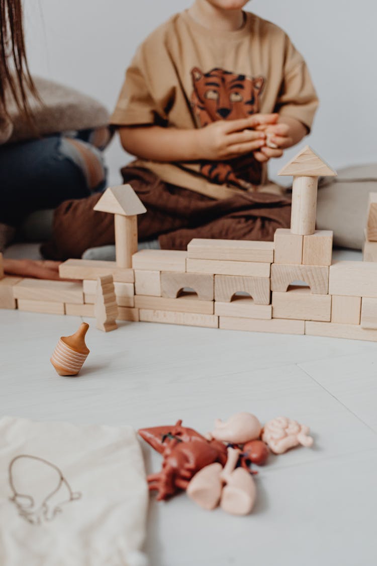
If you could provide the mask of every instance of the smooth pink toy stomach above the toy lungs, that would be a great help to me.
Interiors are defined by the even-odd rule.
[[[237,413],[226,422],[216,419],[215,428],[209,433],[210,438],[244,444],[248,440],[255,440],[261,435],[261,423],[251,413]]]

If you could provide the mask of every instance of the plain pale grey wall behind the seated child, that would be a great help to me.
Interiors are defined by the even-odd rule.
[[[112,109],[136,46],[185,0],[25,1],[33,74],[71,85]],[[375,0],[253,0],[246,10],[288,32],[310,68],[321,105],[309,143],[335,168],[377,161]],[[270,175],[291,158],[270,161]],[[128,161],[118,140],[107,150],[110,182]]]

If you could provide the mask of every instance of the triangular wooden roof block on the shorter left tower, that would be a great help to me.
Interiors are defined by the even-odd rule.
[[[107,188],[94,210],[122,216],[135,216],[146,212],[144,204],[131,185]]]

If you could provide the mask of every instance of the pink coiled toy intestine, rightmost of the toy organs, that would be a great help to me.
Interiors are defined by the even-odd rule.
[[[309,427],[287,417],[278,417],[265,424],[262,440],[268,444],[272,452],[283,454],[298,444],[309,448],[313,444],[313,438],[308,435]]]

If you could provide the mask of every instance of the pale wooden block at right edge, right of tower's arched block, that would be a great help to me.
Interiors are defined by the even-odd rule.
[[[328,292],[331,295],[377,297],[377,263],[337,261],[330,266]]]

